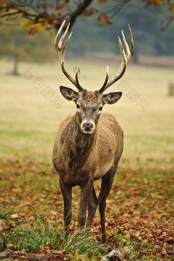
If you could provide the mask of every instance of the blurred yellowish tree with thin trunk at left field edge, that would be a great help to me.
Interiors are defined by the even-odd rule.
[[[33,38],[24,28],[0,25],[0,35],[0,58],[7,57],[14,64],[12,72],[8,73],[19,75],[19,61],[43,63],[53,59],[52,40],[44,31]]]

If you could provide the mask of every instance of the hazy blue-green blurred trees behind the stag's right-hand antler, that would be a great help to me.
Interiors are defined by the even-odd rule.
[[[110,2],[111,7],[112,2]],[[74,25],[74,33],[77,41],[71,39],[71,49],[73,53],[81,52],[100,52],[112,53],[117,51],[119,54],[119,46],[116,44],[117,35],[121,35],[123,29],[128,39],[127,24],[131,26],[136,55],[134,61],[138,62],[139,55],[143,56],[171,56],[174,54],[173,43],[174,34],[172,24],[162,31],[160,28],[166,25],[168,21],[168,7],[160,6],[157,9],[143,8],[141,1],[129,1],[124,8],[119,9],[116,15],[112,17],[112,24],[98,27],[97,14],[90,19],[79,17],[80,22]],[[103,6],[104,12],[105,7]],[[107,12],[106,12],[107,13]],[[74,36],[73,36],[74,37]],[[84,41],[83,39],[89,39]]]

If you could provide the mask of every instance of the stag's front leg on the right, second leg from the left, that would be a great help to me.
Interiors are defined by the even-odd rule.
[[[80,207],[78,212],[78,223],[80,228],[83,228],[86,222],[86,209],[88,207],[92,189],[93,189],[93,179],[90,179],[83,183],[80,186],[81,193],[80,193]]]

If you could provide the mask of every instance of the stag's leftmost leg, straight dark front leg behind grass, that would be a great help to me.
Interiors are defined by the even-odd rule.
[[[72,218],[72,187],[64,184],[61,178],[59,178],[59,183],[64,204],[64,236],[67,238],[67,236],[69,235],[70,223]]]

